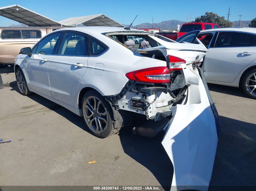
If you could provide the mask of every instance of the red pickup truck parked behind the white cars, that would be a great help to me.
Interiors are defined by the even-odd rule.
[[[178,33],[156,33],[161,36],[167,37],[171,40],[177,40],[182,35],[191,32],[193,30],[207,30],[207,29],[220,28],[218,24],[214,23],[184,23],[181,26],[180,32]]]

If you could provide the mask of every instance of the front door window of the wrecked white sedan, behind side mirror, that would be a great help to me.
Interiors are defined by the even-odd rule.
[[[53,54],[55,48],[57,46],[57,41],[62,33],[54,33],[43,40],[41,40],[37,45],[37,50],[35,51],[36,54]]]

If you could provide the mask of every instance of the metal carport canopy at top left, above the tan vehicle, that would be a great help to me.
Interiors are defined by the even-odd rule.
[[[41,14],[31,11],[20,5],[10,5],[0,8],[0,16],[17,21],[28,26],[39,27],[56,27],[61,26],[57,21],[47,18]]]

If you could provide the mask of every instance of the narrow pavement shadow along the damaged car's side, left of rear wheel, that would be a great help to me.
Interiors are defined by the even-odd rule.
[[[10,87],[12,88],[11,91],[17,91],[20,94],[18,85],[16,81],[12,81],[9,83]],[[65,107],[60,106],[57,103],[54,103],[38,94],[31,94],[28,95],[30,99],[36,101],[37,103],[43,105],[44,107],[47,107],[48,109],[55,111],[59,115],[65,117],[68,119],[71,123],[74,123],[76,126],[80,127],[86,132],[89,132],[87,127],[85,126],[84,120],[82,117],[76,115],[75,113],[69,111]]]

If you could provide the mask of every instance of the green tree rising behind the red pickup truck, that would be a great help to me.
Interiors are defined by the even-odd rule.
[[[232,22],[225,20],[224,17],[220,17],[218,14],[213,12],[206,12],[205,15],[195,18],[195,22],[215,23],[220,27],[232,27]]]

